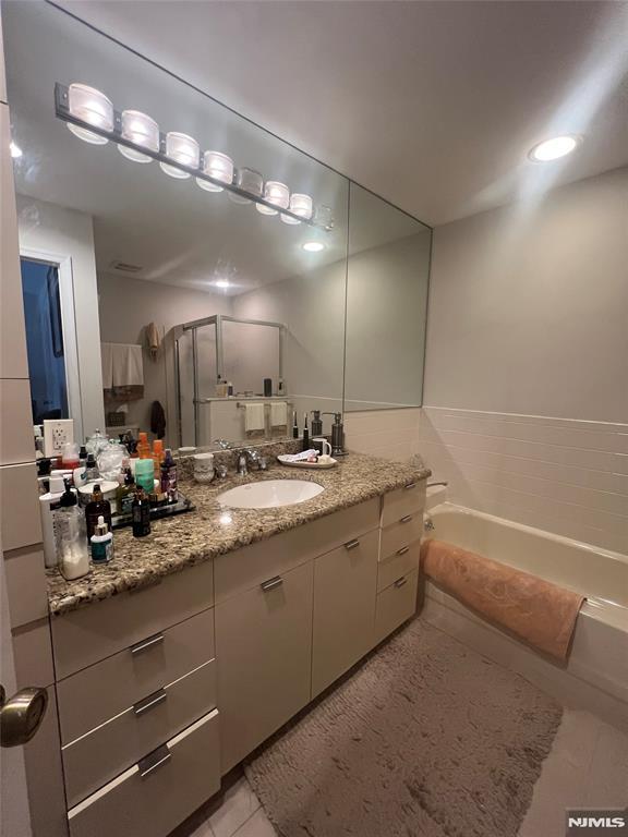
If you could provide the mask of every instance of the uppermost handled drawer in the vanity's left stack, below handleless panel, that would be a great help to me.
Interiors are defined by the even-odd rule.
[[[61,680],[57,684],[61,742],[74,741],[213,657],[214,608],[209,608]]]

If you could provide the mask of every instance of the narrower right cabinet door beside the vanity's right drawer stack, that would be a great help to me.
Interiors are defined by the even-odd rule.
[[[379,530],[314,561],[312,696],[373,645]]]

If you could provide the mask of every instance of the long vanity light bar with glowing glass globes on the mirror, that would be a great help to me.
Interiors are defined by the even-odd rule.
[[[194,177],[208,192],[226,191],[237,204],[255,203],[263,215],[280,215],[285,223],[306,223],[325,232],[334,229],[331,209],[316,206],[310,195],[294,193],[285,183],[264,178],[245,166],[234,168],[233,160],[220,151],[205,151],[196,140],[177,131],[161,133],[147,113],[138,110],[117,111],[104,93],[85,84],[55,85],[55,110],[58,119],[81,140],[106,145],[110,140],[120,153],[136,162],[157,160],[166,174],[184,180]],[[322,244],[321,248],[325,245]]]

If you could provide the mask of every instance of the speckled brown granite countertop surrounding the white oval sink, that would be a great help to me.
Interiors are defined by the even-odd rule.
[[[421,462],[349,453],[329,470],[286,468],[275,462],[266,472],[246,477],[230,474],[209,485],[182,478],[179,487],[195,511],[155,521],[150,534],[142,538],[133,537],[130,527],[114,530],[113,560],[94,567],[82,579],[65,581],[58,570],[48,570],[50,614],[59,616],[123,591],[149,586],[164,575],[424,480],[430,473]],[[311,480],[325,490],[305,502],[275,509],[231,509],[216,500],[218,494],[237,485],[277,478]]]

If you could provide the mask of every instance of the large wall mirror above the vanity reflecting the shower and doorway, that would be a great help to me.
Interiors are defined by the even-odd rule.
[[[55,7],[3,26],[34,423],[215,447],[421,403],[427,228]]]

